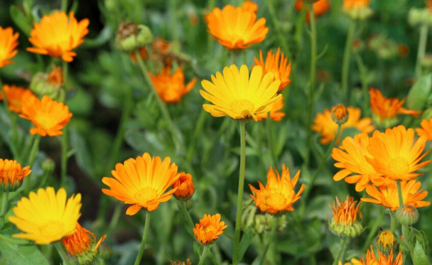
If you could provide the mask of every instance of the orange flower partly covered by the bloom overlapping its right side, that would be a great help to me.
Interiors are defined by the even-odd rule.
[[[334,181],[345,179],[346,183],[356,183],[356,191],[363,191],[369,182],[375,186],[387,184],[389,181],[375,171],[365,157],[371,158],[366,149],[369,144],[367,133],[356,134],[354,138],[346,137],[339,148],[333,148],[332,157],[337,162],[335,167],[342,168],[333,176]],[[354,175],[351,175],[354,174]]]

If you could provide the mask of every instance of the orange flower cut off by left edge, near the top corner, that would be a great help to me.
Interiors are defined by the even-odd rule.
[[[9,61],[15,56],[18,50],[14,50],[18,46],[19,33],[13,33],[12,27],[3,28],[0,26],[0,68],[10,65],[13,61]]]

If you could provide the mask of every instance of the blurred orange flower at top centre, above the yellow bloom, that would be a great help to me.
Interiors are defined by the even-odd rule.
[[[264,40],[268,32],[265,18],[241,7],[214,8],[206,17],[208,33],[227,49],[246,49]]]

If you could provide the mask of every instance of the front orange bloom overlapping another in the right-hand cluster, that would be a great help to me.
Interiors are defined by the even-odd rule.
[[[414,144],[413,141],[414,130],[407,130],[402,125],[387,129],[385,133],[374,131],[367,146],[371,157],[366,157],[366,160],[376,172],[388,179],[415,179],[420,173],[413,172],[429,164],[431,160],[419,163],[430,152],[421,155],[426,145],[426,136],[421,136]]]

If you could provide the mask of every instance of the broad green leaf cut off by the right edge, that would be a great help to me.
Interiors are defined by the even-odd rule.
[[[420,77],[411,87],[407,96],[407,106],[409,109],[423,110],[427,97],[432,88],[432,74]]]

